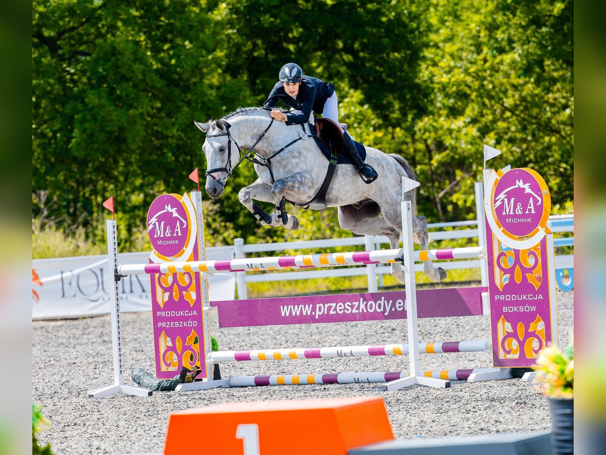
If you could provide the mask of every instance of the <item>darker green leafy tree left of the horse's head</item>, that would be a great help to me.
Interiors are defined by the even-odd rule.
[[[204,167],[193,120],[250,95],[222,72],[224,8],[203,6],[34,2],[33,188],[56,201],[50,217],[86,225],[115,195],[132,232]]]

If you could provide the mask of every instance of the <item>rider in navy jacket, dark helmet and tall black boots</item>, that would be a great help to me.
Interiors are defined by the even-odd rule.
[[[339,124],[335,86],[318,78],[303,76],[303,70],[295,63],[287,63],[282,67],[280,80],[271,90],[264,106],[274,107],[278,103],[278,99],[281,99],[282,103],[290,106],[293,110],[283,113],[281,110],[273,109],[271,110],[271,117],[278,121],[285,121],[287,125],[307,123],[312,111]],[[358,149],[356,149],[356,145],[347,131],[343,132],[343,138],[345,152],[350,155],[351,161],[358,169],[362,180],[365,183],[374,181],[378,177],[375,169],[362,161]]]

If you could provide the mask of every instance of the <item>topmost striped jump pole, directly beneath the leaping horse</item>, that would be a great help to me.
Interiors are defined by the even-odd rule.
[[[191,272],[244,272],[262,270],[304,269],[333,266],[388,264],[402,262],[402,249],[356,251],[348,253],[299,254],[216,261],[190,261],[118,266],[118,275],[145,275]],[[478,258],[485,255],[484,247],[430,249],[413,252],[413,260],[447,260]]]

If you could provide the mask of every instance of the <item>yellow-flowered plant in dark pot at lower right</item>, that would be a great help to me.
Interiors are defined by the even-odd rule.
[[[535,381],[549,399],[551,445],[554,454],[573,453],[574,443],[574,343],[564,351],[547,346],[539,353],[533,367],[539,374]]]

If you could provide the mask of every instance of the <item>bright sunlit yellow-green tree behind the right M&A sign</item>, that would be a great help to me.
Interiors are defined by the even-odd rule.
[[[572,200],[572,7],[432,2],[421,72],[431,108],[410,139],[425,207],[432,204],[439,219],[473,214],[484,143],[504,152],[497,164],[537,170],[554,201]]]

